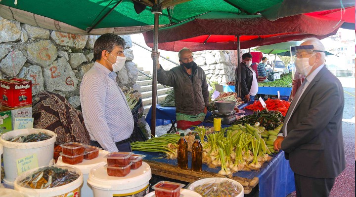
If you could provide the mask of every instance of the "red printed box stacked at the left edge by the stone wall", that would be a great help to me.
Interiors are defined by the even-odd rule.
[[[0,79],[2,105],[14,108],[32,104],[32,82],[27,79]]]

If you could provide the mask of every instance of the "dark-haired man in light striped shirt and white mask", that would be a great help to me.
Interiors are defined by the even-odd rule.
[[[80,87],[90,145],[109,152],[131,152],[129,137],[134,130],[134,118],[116,82],[116,72],[125,66],[125,44],[118,35],[101,35],[94,43],[94,66],[85,73]]]

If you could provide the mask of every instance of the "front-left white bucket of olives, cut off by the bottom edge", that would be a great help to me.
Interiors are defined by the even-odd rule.
[[[20,176],[18,176],[15,180],[15,190],[28,197],[80,197],[81,196],[80,188],[81,185],[83,184],[83,174],[81,170],[72,166],[57,166],[57,167],[75,171],[76,173],[80,174],[80,176],[71,183],[59,187],[54,187],[54,188],[31,189],[31,188],[25,188],[20,186],[19,182],[22,181],[27,176],[31,176],[35,171],[41,168],[39,167],[27,171],[21,174]]]

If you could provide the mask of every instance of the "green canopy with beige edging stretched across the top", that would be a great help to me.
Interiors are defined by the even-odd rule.
[[[306,12],[305,7],[308,7],[308,12],[341,7],[339,0],[320,0],[328,1],[328,6],[319,1],[318,6],[308,0],[300,1],[306,2],[293,3],[291,0],[160,0],[163,11],[159,17],[159,24],[173,25],[212,11],[248,15],[261,14],[267,19],[275,20],[304,13]],[[352,0],[343,0],[345,7],[350,6],[349,1]],[[16,2],[15,5],[15,0],[0,0],[0,16],[61,32],[129,34],[152,30],[154,25],[152,8],[140,4],[150,5],[153,4],[153,0],[17,0]],[[355,4],[355,1],[353,3]],[[304,6],[302,7],[300,4]],[[140,12],[140,8],[143,10],[142,12]],[[113,10],[110,12],[111,9]],[[285,9],[288,12],[285,12]],[[281,11],[285,13],[280,14]],[[276,13],[279,13],[278,16]],[[97,25],[92,31],[86,32],[96,23]],[[192,27],[192,31],[193,29],[194,27]]]

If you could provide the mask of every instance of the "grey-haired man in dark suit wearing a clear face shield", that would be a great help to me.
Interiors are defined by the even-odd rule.
[[[324,51],[316,38],[291,47],[297,71],[306,79],[288,109],[274,149],[283,150],[289,159],[297,197],[328,197],[336,176],[345,169],[344,90],[324,65]]]

